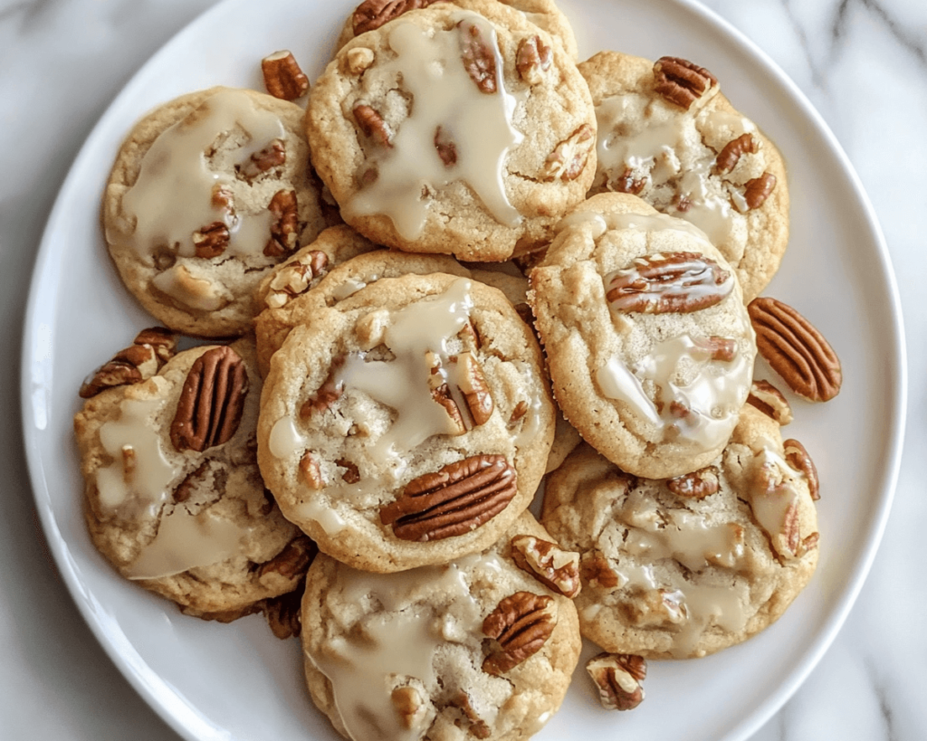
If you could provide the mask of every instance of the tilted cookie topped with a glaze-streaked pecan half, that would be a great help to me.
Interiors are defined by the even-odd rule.
[[[703,232],[634,195],[595,195],[530,282],[553,394],[587,442],[648,478],[717,458],[750,393],[756,341]]]

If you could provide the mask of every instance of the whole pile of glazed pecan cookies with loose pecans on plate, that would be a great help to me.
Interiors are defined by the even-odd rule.
[[[526,738],[583,636],[629,710],[646,659],[756,634],[817,562],[817,472],[754,377],[758,348],[794,394],[841,381],[757,298],[782,158],[692,62],[577,64],[552,0],[366,0],[337,47],[121,148],[109,253],[166,329],[81,389],[95,546],[301,634],[353,741]]]

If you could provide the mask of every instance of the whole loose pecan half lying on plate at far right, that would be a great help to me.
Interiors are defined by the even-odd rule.
[[[775,298],[755,298],[747,313],[756,349],[795,394],[828,401],[840,392],[840,360],[823,335],[798,311]]]

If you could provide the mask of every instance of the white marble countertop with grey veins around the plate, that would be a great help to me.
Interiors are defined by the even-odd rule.
[[[83,139],[134,70],[213,3],[0,0],[0,738],[178,739],[96,643],[44,545],[20,433],[19,355],[44,221]],[[844,146],[882,222],[908,336],[907,441],[883,545],[832,647],[754,738],[921,741],[927,598],[913,587],[927,516],[916,458],[927,444],[927,257],[914,215],[927,207],[927,3],[704,5],[792,77]]]

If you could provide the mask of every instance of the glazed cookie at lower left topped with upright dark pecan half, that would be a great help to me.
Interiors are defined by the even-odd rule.
[[[233,620],[296,589],[314,545],[260,479],[254,346],[201,346],[74,418],[96,548],[191,615]]]

